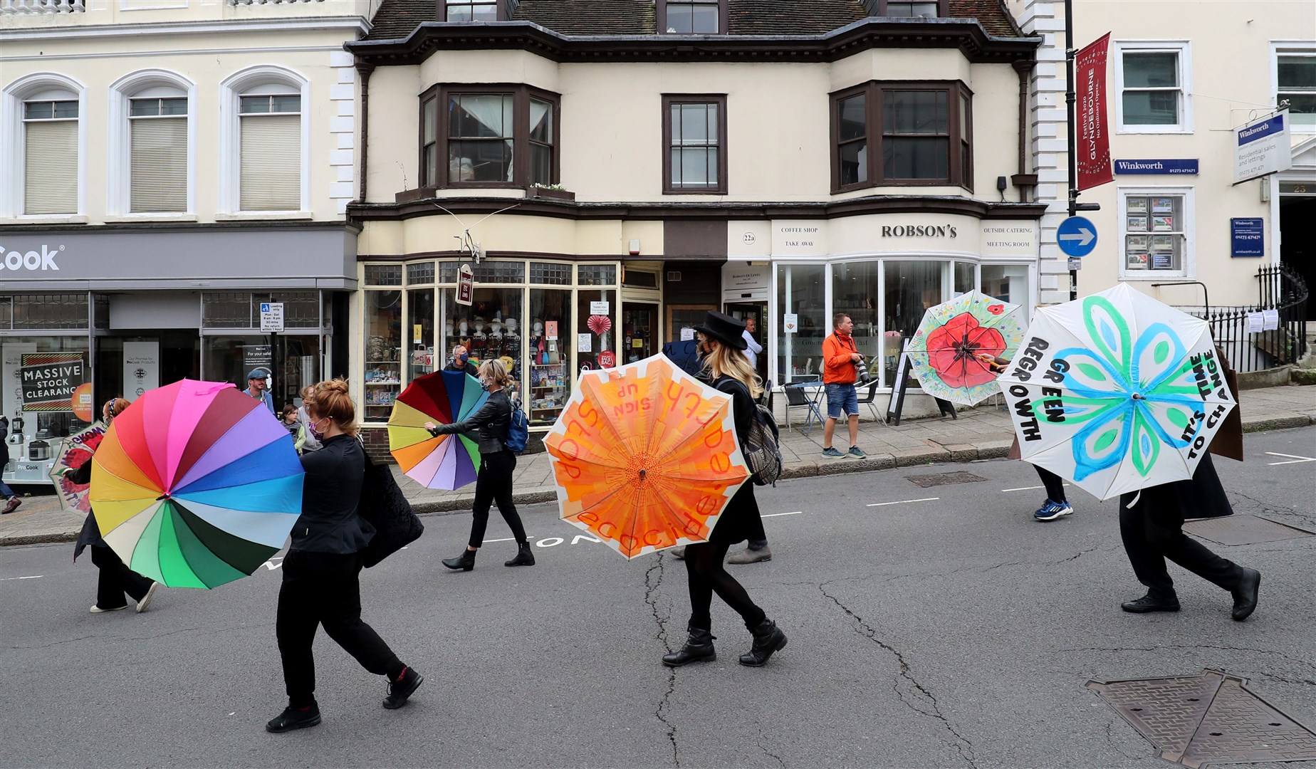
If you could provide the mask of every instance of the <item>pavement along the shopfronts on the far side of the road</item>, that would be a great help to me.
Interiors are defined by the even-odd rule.
[[[1001,399],[998,396],[995,400]],[[1246,432],[1316,424],[1316,387],[1288,385],[1244,390],[1240,404]],[[861,419],[871,416],[874,413],[869,410],[861,413]],[[1013,440],[1009,415],[1001,404],[994,404],[992,400],[959,411],[957,419],[901,420],[899,425],[876,420],[861,421],[859,448],[869,454],[866,460],[822,457],[822,428],[813,424],[805,431],[797,413],[792,416],[792,429],[786,429],[782,423],[780,448],[786,464],[783,478],[865,473],[933,462],[994,460],[1004,457]],[[837,425],[837,433],[836,445],[845,450],[848,438],[844,425]],[[474,486],[457,491],[425,489],[403,475],[396,465],[393,474],[417,514],[471,508]],[[541,452],[519,457],[513,486],[517,504],[557,499],[549,456]],[[18,510],[0,516],[0,546],[76,539],[83,516],[62,510],[53,489],[29,489],[30,495],[24,498]],[[22,492],[22,487],[18,491]]]

